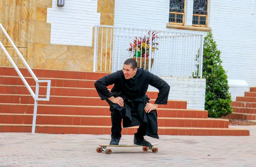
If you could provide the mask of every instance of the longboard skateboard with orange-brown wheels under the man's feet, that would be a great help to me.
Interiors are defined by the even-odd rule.
[[[99,145],[100,147],[96,148],[96,151],[98,153],[101,153],[102,151],[104,151],[106,154],[111,154],[112,150],[111,149],[107,149],[107,147],[142,147],[143,151],[148,151],[148,150],[152,150],[153,153],[157,153],[158,148],[154,147],[155,145],[158,145],[159,143],[154,143],[152,144],[152,146],[147,147],[147,146],[139,146],[139,145],[128,145],[128,144],[124,144],[124,145]],[[154,147],[154,148],[153,148]]]

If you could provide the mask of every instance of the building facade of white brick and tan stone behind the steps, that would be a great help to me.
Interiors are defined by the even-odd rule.
[[[64,7],[57,7],[57,0],[0,0],[0,22],[31,68],[74,71],[94,70],[95,25],[203,36],[211,31],[232,98],[256,86],[256,0],[65,0]],[[13,60],[24,67],[0,35]],[[111,47],[106,48],[110,61]],[[11,66],[2,51],[0,66]],[[171,86],[169,99],[204,108],[204,79],[163,77]]]

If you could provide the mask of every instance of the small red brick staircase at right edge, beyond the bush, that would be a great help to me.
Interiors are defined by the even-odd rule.
[[[225,119],[256,120],[256,87],[250,87],[250,91],[245,92],[244,96],[236,97],[231,106],[233,113]]]

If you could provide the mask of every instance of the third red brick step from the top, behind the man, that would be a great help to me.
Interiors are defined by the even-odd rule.
[[[35,86],[31,86],[35,92]],[[46,95],[47,87],[39,88],[39,95]],[[0,85],[0,94],[30,94],[26,86]],[[75,88],[75,87],[51,87],[51,96],[78,96],[78,97],[99,97],[95,88]],[[156,99],[158,92],[148,91],[147,95],[150,99]],[[182,101],[182,100],[180,100]],[[184,103],[187,102],[183,101]]]

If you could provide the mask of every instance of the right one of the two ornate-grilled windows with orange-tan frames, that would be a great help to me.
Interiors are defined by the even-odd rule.
[[[207,27],[208,0],[194,0],[193,26]]]

